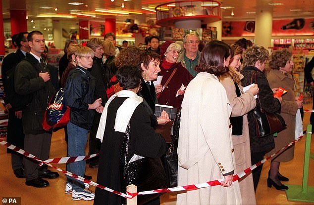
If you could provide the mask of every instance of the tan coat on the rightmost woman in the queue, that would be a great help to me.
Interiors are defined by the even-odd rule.
[[[271,88],[283,87],[288,92],[282,95],[281,113],[280,115],[285,120],[287,128],[278,133],[275,137],[275,148],[267,153],[271,155],[283,148],[288,143],[295,139],[295,126],[296,126],[296,113],[298,111],[298,105],[294,95],[294,80],[290,74],[283,74],[279,70],[271,70],[267,75],[267,80]],[[278,157],[274,159],[276,162],[288,162],[293,160],[294,145],[290,146],[287,150],[282,152]]]

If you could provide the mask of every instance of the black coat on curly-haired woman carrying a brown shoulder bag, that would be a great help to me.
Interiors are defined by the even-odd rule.
[[[241,71],[241,74],[244,76],[241,83],[245,87],[251,83],[251,76],[253,73],[257,72],[257,82],[253,79],[252,83],[257,83],[259,86],[259,98],[262,104],[262,108],[268,113],[280,112],[280,102],[277,98],[273,97],[273,91],[271,90],[269,83],[266,79],[265,74],[256,67],[245,67]],[[260,108],[260,103],[256,99],[256,106]],[[250,144],[251,152],[263,152],[268,151],[274,148],[274,138],[273,135],[268,135],[266,137],[256,137],[256,128],[254,123],[254,110],[248,113],[249,121],[249,132],[250,132]]]

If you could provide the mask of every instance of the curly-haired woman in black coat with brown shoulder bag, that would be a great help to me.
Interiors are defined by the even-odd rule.
[[[281,97],[273,97],[273,90],[269,87],[269,83],[263,73],[268,57],[268,50],[262,46],[254,45],[246,49],[243,56],[243,69],[241,71],[244,78],[241,80],[241,83],[243,87],[252,83],[258,84],[260,88],[259,98],[261,105],[257,99],[257,108],[262,106],[266,112],[275,113],[280,112],[280,103],[282,99]],[[253,78],[253,82],[251,82],[251,77],[254,73],[256,73],[257,80],[255,82],[255,78]],[[274,148],[274,137],[272,134],[265,137],[256,137],[253,111],[254,110],[248,113],[248,121],[251,144],[251,161],[252,164],[256,164],[263,159],[263,156],[267,151]],[[255,191],[260,180],[261,171],[262,165],[252,171]]]

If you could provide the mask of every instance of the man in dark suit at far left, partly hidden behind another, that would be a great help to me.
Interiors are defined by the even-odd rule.
[[[25,58],[25,54],[29,52],[29,46],[27,43],[27,35],[28,32],[19,33],[13,44],[17,45],[18,49],[14,53],[8,54],[2,62],[2,79],[3,79],[3,87],[4,93],[6,96],[10,95],[12,89],[8,88],[8,84],[6,83],[7,79],[7,71],[10,69],[14,69],[15,66]],[[9,121],[7,127],[7,142],[24,149],[24,133],[23,133],[23,125],[22,125],[22,111],[15,110],[12,108],[10,100],[4,97],[4,102],[9,110]],[[24,178],[24,166],[23,166],[23,156],[17,152],[7,150],[7,153],[11,153],[11,165],[13,172],[17,178]]]

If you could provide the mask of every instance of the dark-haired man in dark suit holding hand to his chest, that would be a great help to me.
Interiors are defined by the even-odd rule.
[[[31,95],[32,100],[23,108],[23,130],[25,133],[24,149],[41,160],[49,158],[52,133],[42,127],[44,113],[48,103],[55,93],[51,74],[47,65],[41,59],[45,49],[44,35],[39,31],[32,31],[27,36],[30,52],[26,53],[26,60],[21,61],[15,69],[14,88],[17,94]],[[56,178],[57,172],[39,166],[29,158],[23,159],[26,185],[46,187],[49,182],[42,178]]]

